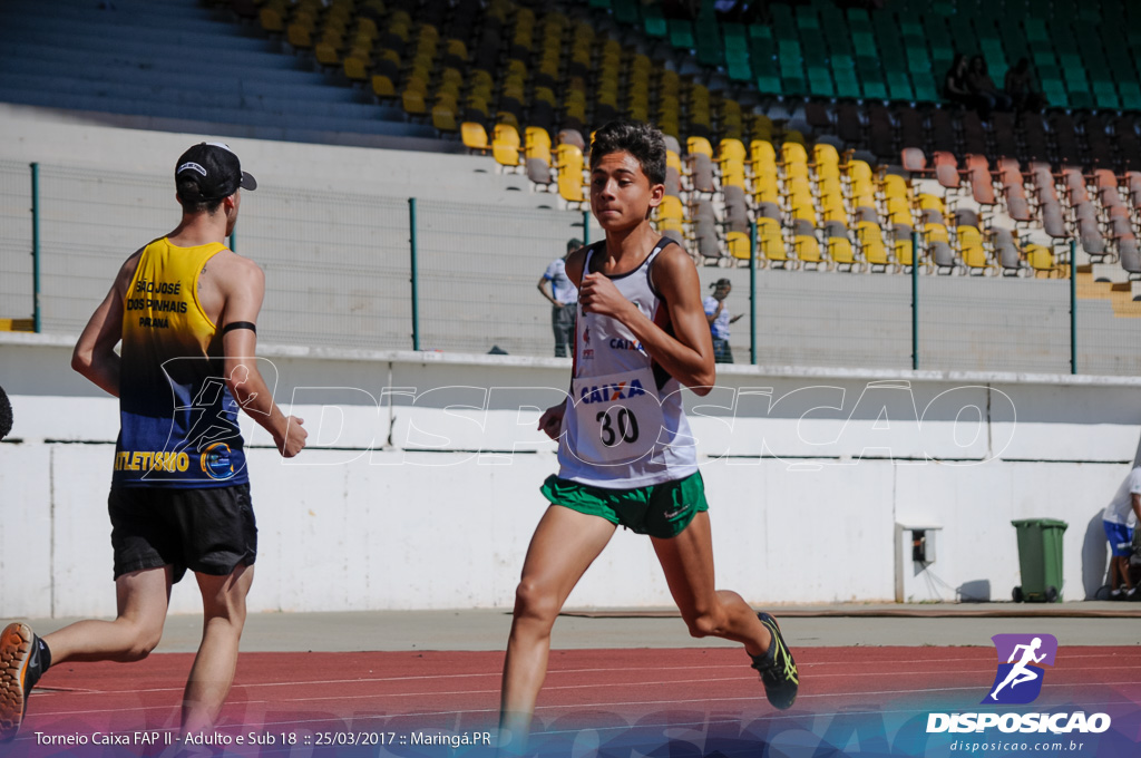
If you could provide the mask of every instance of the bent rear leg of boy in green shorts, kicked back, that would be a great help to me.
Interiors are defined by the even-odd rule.
[[[750,655],[763,655],[772,635],[736,592],[713,583],[713,540],[709,513],[670,539],[652,538],[670,594],[694,637],[721,637],[744,643]]]

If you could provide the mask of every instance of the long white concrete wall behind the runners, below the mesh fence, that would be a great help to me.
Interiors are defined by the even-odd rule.
[[[0,608],[107,614],[116,402],[68,369],[74,338],[0,334],[16,424],[0,443]],[[537,492],[556,471],[537,409],[569,362],[267,346],[278,402],[313,443],[282,461],[248,440],[259,522],[256,611],[509,607]],[[1101,582],[1100,509],[1138,445],[1141,381],[729,366],[687,396],[712,506],[718,583],[758,604],[884,600],[895,524],[938,525],[904,597],[1019,583],[1013,518],[1069,523],[1067,599]],[[430,452],[429,452],[430,451]],[[482,451],[482,452],[480,452]],[[515,451],[515,452],[511,452]],[[618,531],[569,600],[669,605],[648,541]],[[193,582],[175,612],[193,612]]]

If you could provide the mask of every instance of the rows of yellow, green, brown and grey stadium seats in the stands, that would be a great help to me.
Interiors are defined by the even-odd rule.
[[[215,5],[342,82],[354,107],[372,99],[386,129],[486,153],[565,207],[585,204],[584,134],[616,116],[654,121],[674,199],[657,223],[702,264],[747,263],[755,224],[756,259],[791,268],[1138,267],[1141,34],[1127,30],[1141,13],[1120,0],[809,0],[743,22],[711,0],[689,19],[634,0]],[[1101,43],[1076,49],[1074,29]],[[938,82],[956,50],[981,55],[996,81],[1027,57],[1054,107],[988,120],[947,107]],[[1058,263],[1070,239],[1079,260]]]

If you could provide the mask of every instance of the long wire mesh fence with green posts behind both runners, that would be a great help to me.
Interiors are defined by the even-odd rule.
[[[259,333],[278,344],[552,355],[535,285],[568,239],[590,234],[581,211],[489,202],[266,186],[243,200],[232,247],[266,272]],[[178,212],[167,179],[0,161],[0,318],[78,333],[127,256]],[[727,306],[747,316],[731,328],[737,362],[1141,373],[1127,293],[1079,298],[1065,269],[1068,281],[867,275],[754,258],[698,277],[703,295],[735,285]]]

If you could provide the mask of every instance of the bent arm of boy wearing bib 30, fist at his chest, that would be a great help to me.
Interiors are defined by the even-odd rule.
[[[670,314],[672,336],[647,318],[601,274],[582,277],[578,300],[583,311],[621,321],[671,377],[694,393],[707,395],[717,380],[717,369],[697,268],[679,245],[671,244],[654,260],[653,282]]]

